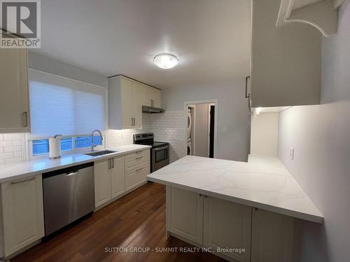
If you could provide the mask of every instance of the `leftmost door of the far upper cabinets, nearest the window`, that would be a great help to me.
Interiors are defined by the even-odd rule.
[[[132,129],[133,126],[133,88],[132,81],[125,78],[120,78],[120,103],[122,112],[122,127],[123,129]]]

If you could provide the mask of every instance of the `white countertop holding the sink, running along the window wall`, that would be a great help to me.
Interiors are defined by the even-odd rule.
[[[16,180],[31,175],[39,175],[41,173],[57,170],[60,168],[68,168],[70,166],[79,165],[81,163],[89,163],[110,157],[117,157],[122,154],[136,152],[151,148],[148,145],[123,145],[120,147],[107,148],[106,150],[116,151],[111,154],[105,154],[99,157],[90,157],[85,154],[67,154],[61,159],[37,159],[33,161],[24,161],[5,166],[0,166],[0,183]]]

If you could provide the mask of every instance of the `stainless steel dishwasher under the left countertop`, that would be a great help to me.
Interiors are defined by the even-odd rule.
[[[43,173],[45,235],[94,211],[94,163]]]

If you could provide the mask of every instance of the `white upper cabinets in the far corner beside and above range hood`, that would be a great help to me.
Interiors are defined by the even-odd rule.
[[[142,105],[160,108],[160,90],[125,78],[109,78],[109,128],[142,129]]]

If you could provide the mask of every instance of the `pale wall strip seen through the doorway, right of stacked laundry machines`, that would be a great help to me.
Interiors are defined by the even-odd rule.
[[[208,115],[207,103],[195,105],[195,156],[209,157],[208,152]]]

